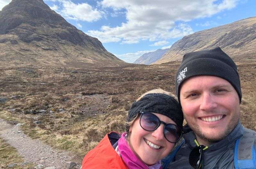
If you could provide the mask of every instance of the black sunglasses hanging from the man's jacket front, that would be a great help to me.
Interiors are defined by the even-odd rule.
[[[194,167],[195,169],[203,169],[204,166],[202,165],[203,161],[203,151],[208,148],[204,145],[199,145],[195,147],[190,153],[189,153],[189,164]]]

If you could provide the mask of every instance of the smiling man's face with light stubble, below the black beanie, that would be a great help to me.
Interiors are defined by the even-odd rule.
[[[180,103],[197,141],[211,144],[227,136],[239,121],[239,97],[234,87],[216,76],[195,76],[183,82]]]

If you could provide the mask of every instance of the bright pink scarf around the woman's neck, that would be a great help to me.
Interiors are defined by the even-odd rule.
[[[156,164],[148,166],[144,164],[132,151],[130,146],[128,145],[125,139],[126,132],[124,132],[121,138],[118,140],[118,151],[121,154],[122,159],[124,160],[125,164],[130,169],[161,169],[161,160],[159,160]]]

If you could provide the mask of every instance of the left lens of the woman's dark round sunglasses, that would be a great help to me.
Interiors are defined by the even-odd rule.
[[[153,131],[159,125],[159,120],[154,114],[144,113],[141,115],[140,125],[145,130]]]

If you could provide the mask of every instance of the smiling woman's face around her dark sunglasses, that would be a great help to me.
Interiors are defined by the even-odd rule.
[[[163,114],[154,114],[165,123],[176,124],[172,119]],[[132,151],[146,165],[156,164],[160,159],[168,155],[174,146],[174,143],[168,142],[164,137],[163,124],[154,131],[146,131],[140,126],[140,118],[137,118],[130,127],[129,132],[129,144]]]

